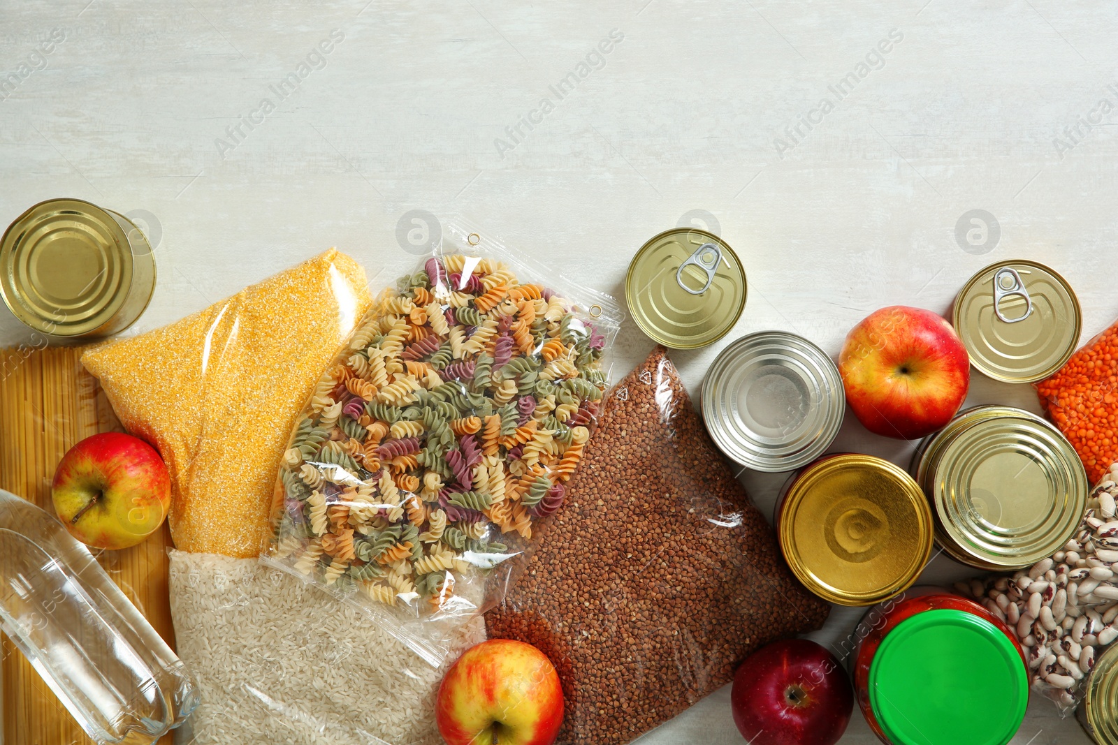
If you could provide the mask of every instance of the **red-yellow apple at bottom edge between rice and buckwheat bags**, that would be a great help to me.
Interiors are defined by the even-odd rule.
[[[559,674],[531,644],[483,641],[447,670],[435,720],[448,745],[550,745],[562,724]]]

